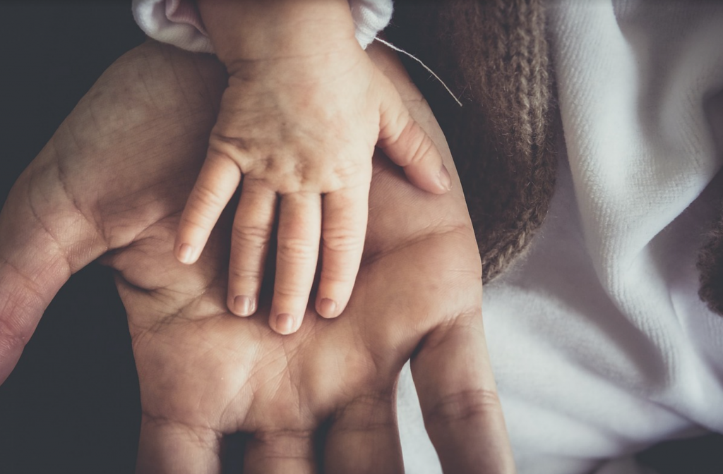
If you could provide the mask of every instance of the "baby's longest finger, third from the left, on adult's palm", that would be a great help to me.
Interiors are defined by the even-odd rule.
[[[278,217],[276,277],[270,325],[280,334],[301,325],[314,283],[321,236],[321,196],[286,194]]]

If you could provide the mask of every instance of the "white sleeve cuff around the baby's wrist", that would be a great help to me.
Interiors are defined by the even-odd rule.
[[[391,20],[393,0],[348,0],[356,40],[367,48]],[[194,0],[133,0],[133,17],[154,40],[187,51],[213,53]]]

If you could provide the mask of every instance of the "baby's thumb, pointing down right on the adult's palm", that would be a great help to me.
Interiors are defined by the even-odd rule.
[[[452,178],[437,146],[404,105],[399,92],[386,81],[382,101],[380,134],[377,145],[397,165],[404,168],[414,186],[435,194],[452,188]]]

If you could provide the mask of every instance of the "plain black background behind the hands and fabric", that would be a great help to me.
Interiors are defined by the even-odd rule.
[[[130,0],[5,0],[0,23],[4,202],[95,79],[144,36]],[[0,474],[132,473],[139,426],[125,312],[111,272],[91,264],[61,289],[0,386]],[[668,443],[641,458],[660,474],[720,474],[723,442]]]

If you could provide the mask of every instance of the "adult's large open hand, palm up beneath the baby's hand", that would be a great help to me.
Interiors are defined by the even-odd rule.
[[[445,150],[388,51],[370,57]],[[479,254],[455,189],[437,197],[375,158],[367,244],[347,315],[294,335],[226,307],[231,215],[192,266],[172,236],[225,77],[208,56],[147,43],[98,80],[0,212],[0,381],[72,272],[116,270],[141,390],[139,473],[219,473],[246,433],[244,473],[401,473],[394,393],[411,358],[445,473],[514,471],[482,329]],[[307,316],[314,315],[307,309]]]

